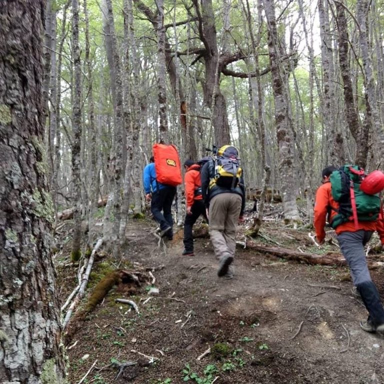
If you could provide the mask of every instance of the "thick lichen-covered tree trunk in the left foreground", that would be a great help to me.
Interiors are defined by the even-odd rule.
[[[0,0],[0,382],[63,382],[43,144],[44,1]]]

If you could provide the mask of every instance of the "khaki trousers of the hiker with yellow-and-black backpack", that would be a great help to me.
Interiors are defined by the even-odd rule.
[[[240,210],[241,196],[237,193],[219,193],[209,201],[209,236],[216,258],[234,256]]]

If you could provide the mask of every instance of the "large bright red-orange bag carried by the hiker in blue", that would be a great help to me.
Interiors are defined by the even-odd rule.
[[[156,180],[161,184],[177,186],[181,184],[181,165],[178,152],[173,144],[155,143],[152,147]]]

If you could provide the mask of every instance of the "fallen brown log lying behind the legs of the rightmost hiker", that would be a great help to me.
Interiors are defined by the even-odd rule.
[[[253,240],[247,238],[245,247],[253,249],[262,253],[270,253],[274,256],[282,257],[287,260],[295,260],[305,262],[306,264],[320,264],[320,265],[346,265],[346,261],[341,253],[327,252],[325,254],[316,254],[308,252],[300,252],[294,249],[280,248],[275,246],[266,246],[255,243]],[[375,260],[373,259],[375,258]],[[367,264],[370,268],[377,268],[384,266],[384,262],[380,261],[380,257],[369,256]]]

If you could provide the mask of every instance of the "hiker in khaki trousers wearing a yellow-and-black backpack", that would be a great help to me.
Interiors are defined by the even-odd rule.
[[[243,220],[245,206],[242,170],[234,146],[222,146],[217,158],[205,163],[201,169],[201,189],[208,208],[210,240],[214,254],[219,259],[217,274],[232,278],[236,224]]]

